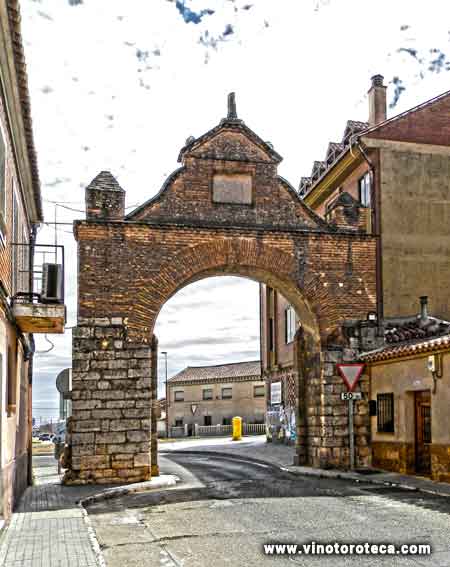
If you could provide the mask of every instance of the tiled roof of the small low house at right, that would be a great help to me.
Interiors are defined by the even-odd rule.
[[[435,317],[422,321],[420,316],[399,323],[390,322],[384,331],[386,345],[360,355],[366,362],[450,348],[450,322]]]

